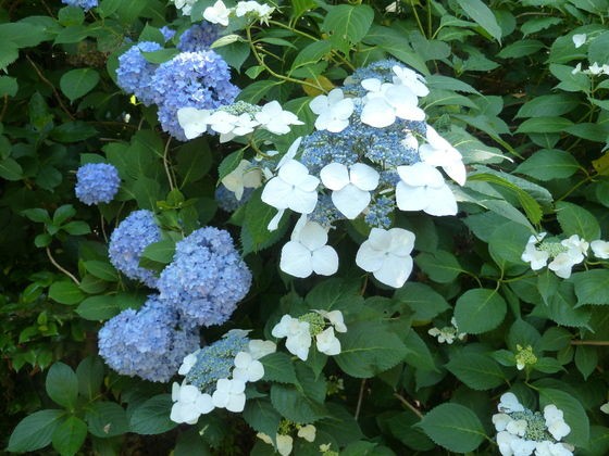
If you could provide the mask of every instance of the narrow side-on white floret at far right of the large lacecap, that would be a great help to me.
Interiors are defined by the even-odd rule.
[[[444,172],[460,186],[465,185],[467,170],[461,153],[427,125],[425,134],[426,144],[421,144],[419,155],[421,161],[434,167],[442,167]]]

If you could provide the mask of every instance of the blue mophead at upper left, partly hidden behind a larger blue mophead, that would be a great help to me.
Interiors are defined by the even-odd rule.
[[[162,49],[161,45],[153,41],[142,41],[134,45],[129,50],[119,56],[116,83],[125,92],[133,93],[145,105],[154,103],[152,75],[159,67],[148,62],[141,52],[152,52]]]

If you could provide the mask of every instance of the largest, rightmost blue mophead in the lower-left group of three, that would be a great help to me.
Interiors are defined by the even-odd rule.
[[[207,227],[176,244],[158,288],[161,300],[178,311],[184,324],[196,327],[227,321],[250,284],[251,273],[231,235]]]

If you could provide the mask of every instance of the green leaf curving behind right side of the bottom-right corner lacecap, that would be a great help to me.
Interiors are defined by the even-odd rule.
[[[564,422],[571,432],[563,440],[575,446],[587,446],[589,440],[589,421],[584,407],[569,393],[552,388],[539,388],[539,408],[554,404],[564,414]]]

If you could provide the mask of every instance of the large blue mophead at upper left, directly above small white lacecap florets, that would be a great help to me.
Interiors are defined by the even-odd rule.
[[[182,52],[159,66],[151,81],[164,131],[186,141],[177,122],[177,110],[213,110],[231,104],[239,89],[231,84],[226,62],[213,51]]]

